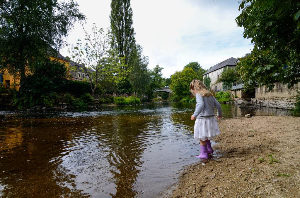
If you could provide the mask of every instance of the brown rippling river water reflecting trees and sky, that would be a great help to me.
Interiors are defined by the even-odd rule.
[[[195,103],[0,111],[0,197],[163,197],[199,159]],[[224,118],[289,115],[222,104]]]

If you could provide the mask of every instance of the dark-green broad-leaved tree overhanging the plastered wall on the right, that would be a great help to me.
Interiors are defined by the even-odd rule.
[[[244,37],[251,38],[254,48],[239,63],[238,73],[245,89],[274,82],[298,83],[300,70],[300,3],[295,0],[244,0],[236,18],[244,27]]]

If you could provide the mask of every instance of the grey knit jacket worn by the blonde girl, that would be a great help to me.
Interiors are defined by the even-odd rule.
[[[193,114],[195,118],[207,117],[214,115],[214,107],[217,108],[217,116],[222,117],[222,107],[213,96],[203,97],[201,93],[196,94],[196,110]]]

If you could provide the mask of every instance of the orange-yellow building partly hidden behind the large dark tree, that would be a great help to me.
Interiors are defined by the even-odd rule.
[[[49,57],[50,60],[59,60],[62,63],[64,63],[64,65],[67,68],[68,71],[68,79],[69,79],[69,75],[70,75],[70,61],[67,60],[64,56],[62,56],[59,52],[57,54],[51,55],[52,53],[49,51]],[[19,79],[15,79],[13,78],[12,75],[8,74],[7,72],[3,72],[1,73],[0,71],[0,85],[7,87],[7,88],[11,88],[11,89],[16,89],[19,90],[20,88],[20,81]]]

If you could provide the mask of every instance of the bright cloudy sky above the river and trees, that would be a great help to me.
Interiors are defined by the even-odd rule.
[[[91,31],[110,26],[110,0],[77,0],[79,10],[86,16],[83,25]],[[181,71],[190,62],[208,69],[230,57],[238,58],[253,48],[250,39],[237,27],[239,15],[236,0],[131,0],[133,27],[137,43],[149,57],[149,68],[163,67],[163,77]],[[75,44],[84,39],[82,25],[74,24],[65,39]],[[63,56],[68,47],[61,49]]]

